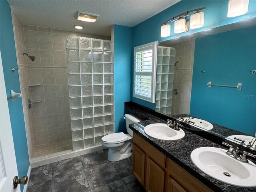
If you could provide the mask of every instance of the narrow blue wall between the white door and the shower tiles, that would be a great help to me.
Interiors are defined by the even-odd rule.
[[[12,15],[10,5],[6,0],[0,1],[0,50],[4,70],[4,80],[7,98],[11,97],[11,90],[20,92],[18,72],[12,73],[12,66],[17,68]],[[26,129],[22,109],[22,100],[17,98],[8,104],[12,126],[12,136],[18,167],[19,178],[28,173],[29,158],[26,138]],[[20,185],[21,190],[24,186]]]

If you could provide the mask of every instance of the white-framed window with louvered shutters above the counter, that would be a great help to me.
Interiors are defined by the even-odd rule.
[[[133,96],[155,102],[157,41],[134,47]]]

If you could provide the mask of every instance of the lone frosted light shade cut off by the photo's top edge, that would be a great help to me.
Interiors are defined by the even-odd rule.
[[[228,17],[236,17],[248,12],[249,0],[229,0]]]

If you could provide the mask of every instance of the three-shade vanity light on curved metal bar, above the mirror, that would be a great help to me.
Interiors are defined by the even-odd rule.
[[[186,12],[184,12],[182,14],[178,14],[178,15],[170,18],[166,22],[162,23],[161,37],[170,36],[170,33],[166,32],[166,28],[168,25],[167,23],[170,21],[172,21],[172,22],[174,21],[174,33],[187,32],[189,20],[186,19],[186,17],[190,16],[189,13],[191,13],[191,12],[196,12],[196,13],[194,13],[190,16],[190,22],[191,22],[190,28],[196,29],[196,28],[200,28],[200,27],[204,26],[204,13],[200,12],[200,10],[204,10],[204,9],[205,9],[205,7],[186,11]],[[171,28],[171,26],[168,26],[168,27]]]

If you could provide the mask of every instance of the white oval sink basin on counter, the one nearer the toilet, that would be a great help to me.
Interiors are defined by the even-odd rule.
[[[177,140],[185,136],[183,130],[176,131],[164,123],[150,124],[145,127],[144,132],[150,137],[161,140]]]

